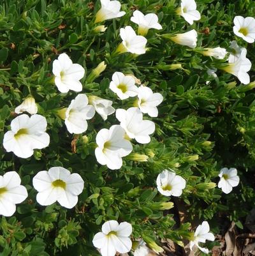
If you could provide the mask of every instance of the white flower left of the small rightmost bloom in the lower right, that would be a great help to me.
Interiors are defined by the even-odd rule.
[[[173,195],[179,197],[182,195],[182,190],[186,187],[186,181],[183,177],[176,175],[173,170],[163,170],[157,176],[157,190],[162,195]]]

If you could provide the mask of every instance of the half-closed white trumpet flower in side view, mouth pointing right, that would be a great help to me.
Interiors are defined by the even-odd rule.
[[[186,33],[170,36],[170,40],[178,43],[179,45],[186,45],[188,47],[195,48],[196,42],[198,41],[198,33],[193,29]]]

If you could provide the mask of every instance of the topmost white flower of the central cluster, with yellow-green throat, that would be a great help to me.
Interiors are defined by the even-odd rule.
[[[115,72],[112,75],[110,89],[113,93],[117,93],[120,100],[125,100],[129,97],[137,95],[138,88],[135,85],[135,79],[131,75],[124,75],[121,72]]]

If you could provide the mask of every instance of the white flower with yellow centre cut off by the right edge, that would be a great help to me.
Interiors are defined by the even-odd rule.
[[[254,43],[255,40],[255,19],[252,17],[236,16],[234,19],[234,33],[243,38],[248,43]]]

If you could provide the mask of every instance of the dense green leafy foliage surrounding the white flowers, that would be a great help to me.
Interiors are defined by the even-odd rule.
[[[107,220],[131,223],[133,241],[142,237],[148,244],[152,240],[161,245],[161,239],[169,238],[183,245],[190,236],[190,222],[208,220],[214,234],[224,229],[219,225],[222,220],[234,220],[242,229],[245,216],[254,207],[255,85],[242,85],[221,70],[216,78],[208,75],[208,68],[226,63],[226,59],[200,54],[200,47],[230,50],[230,42],[237,40],[254,63],[254,43],[233,33],[235,15],[254,16],[254,1],[198,0],[201,20],[192,26],[176,15],[179,1],[121,2],[126,15],[106,20],[103,33],[93,31],[99,1],[0,3],[1,142],[16,116],[15,107],[29,95],[38,103],[38,114],[46,117],[50,135],[50,145],[34,151],[31,158],[18,158],[0,147],[0,174],[17,171],[28,192],[15,215],[1,217],[1,255],[99,255],[92,238]],[[113,54],[121,42],[119,29],[137,28],[130,21],[136,9],[156,13],[163,29],[149,30],[145,54]],[[198,31],[196,49],[163,36],[191,29]],[[110,91],[112,74],[117,71],[133,74],[154,93],[163,94],[159,116],[146,117],[156,123],[151,142],[132,140],[133,152],[123,158],[120,170],[100,165],[94,154],[99,130],[119,124],[115,114],[106,121],[96,114],[82,135],[68,133],[58,115],[77,96],[74,91],[60,93],[52,82],[52,62],[63,52],[85,68],[82,93],[112,100],[115,109],[128,109],[135,103],[130,98],[119,100]],[[105,71],[91,79],[92,70],[102,61],[107,65]],[[249,74],[254,81],[254,66]],[[147,162],[140,162],[139,155],[146,155]],[[73,209],[36,202],[33,177],[56,166],[84,179],[84,190]],[[216,186],[223,167],[236,168],[240,176],[240,184],[228,195]],[[186,179],[181,197],[157,192],[156,178],[164,169],[173,169]],[[174,204],[166,204],[169,201]],[[184,223],[179,223],[180,208],[185,211]]]

